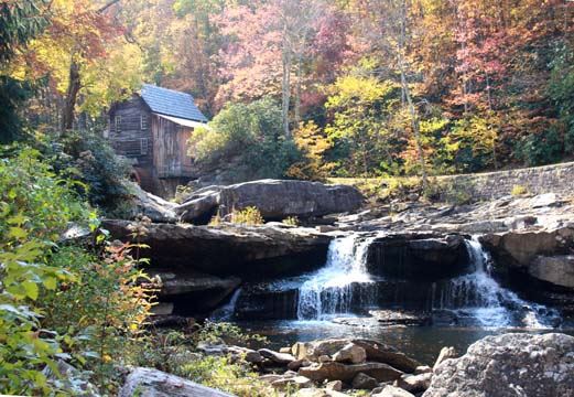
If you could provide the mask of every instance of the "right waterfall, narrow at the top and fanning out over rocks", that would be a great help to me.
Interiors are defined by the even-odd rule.
[[[445,282],[440,297],[433,300],[433,309],[453,310],[459,319],[468,316],[486,328],[505,328],[516,324],[546,328],[542,304],[526,302],[515,292],[502,288],[490,276],[490,257],[476,238],[466,240],[474,272]]]

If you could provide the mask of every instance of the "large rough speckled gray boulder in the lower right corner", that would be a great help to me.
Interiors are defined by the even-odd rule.
[[[572,396],[573,385],[573,336],[515,333],[487,336],[443,362],[423,396]]]

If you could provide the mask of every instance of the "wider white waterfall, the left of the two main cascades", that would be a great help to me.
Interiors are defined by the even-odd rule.
[[[359,235],[331,242],[325,267],[311,275],[299,289],[297,319],[323,319],[327,314],[348,313],[354,304],[375,302],[375,280],[367,271],[368,247],[375,237]]]

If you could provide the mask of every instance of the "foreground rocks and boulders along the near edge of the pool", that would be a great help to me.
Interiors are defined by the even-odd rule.
[[[377,341],[336,339],[295,343],[279,352],[198,345],[199,354],[227,356],[250,366],[278,396],[343,397],[365,390],[371,397],[574,395],[574,337],[503,334],[474,343],[466,354],[444,347],[423,365]],[[192,358],[193,360],[193,358]],[[136,368],[120,396],[230,396],[151,368]]]

